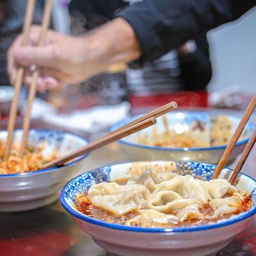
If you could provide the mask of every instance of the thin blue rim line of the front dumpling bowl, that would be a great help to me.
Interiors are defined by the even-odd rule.
[[[152,161],[152,162],[157,162],[157,161]],[[164,161],[163,161],[164,162]],[[182,162],[182,161],[179,161]],[[216,166],[215,164],[207,164],[207,163],[200,163],[200,162],[193,162],[193,161],[184,161],[184,163],[195,163],[195,164],[206,164],[207,166]],[[120,165],[120,164],[129,164],[129,163],[136,163],[136,162],[125,162],[125,163],[116,163],[116,164],[108,164],[105,166],[102,166],[100,168],[97,169],[101,169],[101,168],[106,168],[106,167],[111,167],[111,166],[116,166],[116,165]],[[97,169],[93,169],[93,170],[97,170]],[[90,170],[88,172],[92,172],[93,170]],[[223,170],[231,170],[233,171],[231,168],[227,168],[225,167]],[[84,172],[86,173],[86,172]],[[66,200],[65,200],[65,189],[67,188],[68,184],[70,184],[70,182],[72,182],[73,180],[77,179],[78,177],[81,177],[81,175],[83,175],[84,173],[81,173],[79,175],[77,175],[76,177],[74,177],[72,180],[68,181],[67,184],[65,184],[65,186],[61,189],[61,193],[60,193],[60,202],[61,205],[63,206],[63,208],[72,216],[95,224],[95,225],[99,225],[105,228],[113,228],[116,230],[124,230],[124,231],[131,231],[131,232],[152,232],[152,233],[166,233],[166,232],[173,232],[173,233],[179,233],[179,232],[193,232],[193,231],[203,231],[203,230],[209,230],[212,228],[221,228],[221,227],[225,227],[227,225],[232,225],[234,223],[237,223],[239,221],[243,221],[246,220],[247,218],[250,218],[251,216],[253,216],[253,214],[256,214],[256,205],[252,207],[252,209],[250,209],[248,212],[243,212],[237,216],[235,216],[234,219],[232,220],[228,220],[228,219],[223,219],[220,222],[211,224],[211,225],[199,225],[199,226],[190,226],[190,227],[175,227],[175,228],[141,228],[141,227],[131,227],[131,226],[125,226],[125,225],[120,225],[120,224],[113,224],[113,223],[108,223],[106,221],[101,221],[101,220],[97,220],[94,219],[92,217],[86,216],[85,214],[75,210],[74,208],[70,207],[70,205],[67,204]],[[249,175],[240,172],[241,175],[244,175],[246,177],[248,177],[249,179],[253,180],[253,182],[255,182],[256,184],[256,179],[253,179],[252,177],[250,177]],[[256,190],[256,186],[253,189],[253,191]]]

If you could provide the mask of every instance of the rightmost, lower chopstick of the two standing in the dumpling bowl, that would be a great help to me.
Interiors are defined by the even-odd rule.
[[[249,156],[249,154],[250,154],[250,152],[253,148],[253,145],[255,144],[255,141],[256,141],[256,129],[253,132],[252,137],[250,138],[250,140],[246,144],[246,147],[244,148],[243,154],[240,157],[240,159],[239,159],[239,161],[236,165],[236,168],[235,168],[234,172],[232,173],[230,179],[228,180],[230,182],[230,184],[233,185],[235,183],[235,181],[237,179],[237,175],[241,171],[241,169],[244,165],[244,162],[246,161],[247,157]]]

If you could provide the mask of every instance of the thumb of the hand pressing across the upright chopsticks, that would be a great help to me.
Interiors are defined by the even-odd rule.
[[[15,62],[22,67],[38,65],[40,67],[53,68],[56,65],[56,61],[52,52],[52,45],[43,47],[24,46],[15,49],[13,57]]]

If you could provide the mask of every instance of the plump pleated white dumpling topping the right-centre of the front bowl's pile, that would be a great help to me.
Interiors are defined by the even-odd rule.
[[[207,204],[212,200],[204,181],[193,178],[191,175],[177,175],[171,180],[166,180],[157,185],[153,194],[159,191],[175,191],[182,198],[195,198],[202,204]]]

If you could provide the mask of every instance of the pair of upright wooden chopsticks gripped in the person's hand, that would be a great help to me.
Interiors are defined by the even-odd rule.
[[[22,30],[23,36],[22,36],[21,46],[26,46],[28,45],[28,42],[29,42],[29,32],[30,32],[31,24],[33,20],[33,13],[35,11],[35,3],[36,3],[36,0],[28,0],[24,26]],[[51,19],[52,3],[53,3],[53,0],[45,0],[44,15],[42,20],[42,28],[41,28],[38,46],[42,46],[45,43],[45,37],[47,34],[47,30],[49,28],[49,23]],[[6,148],[4,151],[4,161],[8,159],[10,155],[10,150],[12,147],[13,130],[14,130],[15,122],[17,118],[17,107],[19,102],[20,88],[22,85],[23,77],[24,77],[24,71],[25,70],[23,67],[18,68],[17,77],[15,81],[15,95],[12,100],[12,106],[10,109],[10,115],[8,120],[8,137],[6,141]],[[38,70],[38,67],[35,67],[35,69],[32,72],[32,81],[31,81],[31,86],[29,88],[28,104],[26,107],[26,114],[24,117],[23,125],[22,125],[23,135],[22,135],[22,142],[19,150],[20,157],[23,156],[27,146],[31,108],[32,108],[33,100],[35,99],[36,83],[38,80],[38,76],[39,76],[39,70]]]

